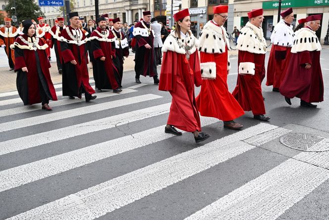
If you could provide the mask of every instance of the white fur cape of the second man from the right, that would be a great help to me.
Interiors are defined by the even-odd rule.
[[[288,26],[283,20],[280,20],[274,26],[273,33],[271,35],[271,43],[282,47],[292,47],[295,34],[291,26]]]

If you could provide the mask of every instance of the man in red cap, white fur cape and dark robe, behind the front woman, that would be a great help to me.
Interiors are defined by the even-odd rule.
[[[153,46],[154,31],[150,25],[151,11],[143,11],[143,20],[134,27],[135,44],[135,81],[141,83],[139,76],[153,77],[154,84],[159,83],[155,50]]]

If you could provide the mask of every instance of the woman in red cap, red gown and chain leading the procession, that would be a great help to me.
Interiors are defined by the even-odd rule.
[[[165,133],[182,135],[176,128],[192,132],[196,143],[210,135],[201,132],[200,116],[195,101],[194,85],[200,86],[201,71],[197,51],[198,40],[190,31],[188,9],[173,15],[176,29],[164,41],[159,90],[169,91],[172,96]],[[176,128],[175,128],[176,127]]]

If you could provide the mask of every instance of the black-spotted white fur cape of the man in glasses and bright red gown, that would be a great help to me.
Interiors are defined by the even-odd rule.
[[[211,21],[208,21],[203,27],[203,30],[199,35],[199,42],[199,51],[201,52],[221,54],[225,52],[225,46],[227,47],[227,50],[231,50],[226,29]]]

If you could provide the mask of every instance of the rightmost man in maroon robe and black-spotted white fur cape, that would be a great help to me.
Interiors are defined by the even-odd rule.
[[[322,102],[324,84],[320,65],[321,44],[316,35],[320,27],[321,14],[306,18],[307,25],[296,32],[291,49],[291,59],[286,76],[284,77],[280,93],[285,101],[291,105],[291,98],[300,98],[300,105],[317,107],[311,102]]]

